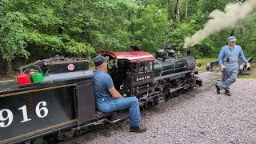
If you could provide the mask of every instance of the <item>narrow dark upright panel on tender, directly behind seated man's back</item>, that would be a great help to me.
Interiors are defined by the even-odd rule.
[[[77,84],[78,125],[95,117],[95,98],[92,80]]]

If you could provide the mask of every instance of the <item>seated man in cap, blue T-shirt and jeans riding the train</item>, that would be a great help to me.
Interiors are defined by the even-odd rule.
[[[113,112],[114,110],[129,109],[130,131],[142,133],[146,127],[141,124],[138,98],[123,98],[122,94],[114,88],[114,83],[109,74],[106,74],[107,61],[109,57],[98,54],[94,58],[94,96],[96,106],[102,112]]]

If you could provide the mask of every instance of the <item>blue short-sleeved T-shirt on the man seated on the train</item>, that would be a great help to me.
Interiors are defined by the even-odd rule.
[[[113,98],[109,92],[113,86],[114,83],[110,74],[106,74],[102,70],[94,70],[94,97],[97,104]]]

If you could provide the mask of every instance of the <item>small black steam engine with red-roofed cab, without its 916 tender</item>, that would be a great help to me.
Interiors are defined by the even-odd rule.
[[[102,51],[101,54],[110,57],[108,74],[115,88],[123,96],[136,96],[141,105],[162,102],[171,98],[172,93],[191,89],[200,82],[194,77],[197,72],[194,71],[195,60],[192,57],[171,57],[165,50],[158,50],[156,58],[141,50]]]

